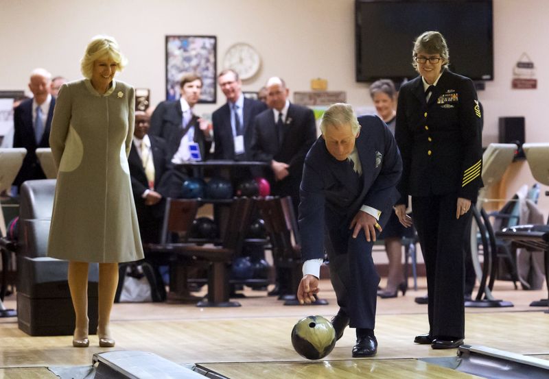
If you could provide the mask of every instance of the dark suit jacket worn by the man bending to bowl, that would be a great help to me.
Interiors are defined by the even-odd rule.
[[[362,164],[362,188],[351,186],[352,181],[345,175],[347,162],[340,162],[329,154],[323,136],[316,140],[305,158],[299,204],[303,260],[323,258],[325,230],[348,232],[351,219],[362,205],[390,214],[399,198],[396,186],[402,162],[395,138],[379,117],[363,116],[358,121],[362,127],[355,147]],[[363,243],[357,241],[355,245],[366,250],[366,239],[362,240]]]

